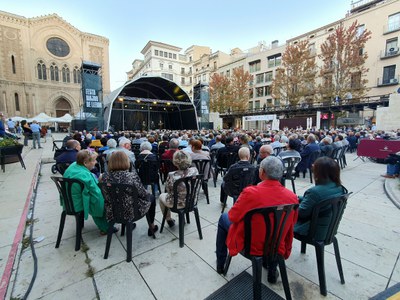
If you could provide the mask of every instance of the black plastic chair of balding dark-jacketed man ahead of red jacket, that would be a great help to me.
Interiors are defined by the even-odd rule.
[[[226,191],[226,194],[233,198],[233,203],[236,202],[237,198],[239,198],[240,193],[243,191],[245,187],[254,184],[255,174],[257,170],[258,169],[256,167],[253,168],[245,167],[229,171],[229,172],[234,172],[232,174],[233,180],[230,182],[225,182],[224,189]],[[224,202],[222,204],[221,214],[225,210],[227,200],[228,197],[223,199]]]

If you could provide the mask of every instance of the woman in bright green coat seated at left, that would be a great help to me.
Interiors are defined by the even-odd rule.
[[[76,184],[72,186],[72,200],[76,211],[84,211],[85,219],[91,215],[101,234],[107,234],[108,223],[104,214],[104,198],[97,185],[97,179],[91,170],[96,164],[97,153],[81,150],[76,155],[76,162],[72,163],[64,173],[64,178],[79,179],[84,188],[81,191]],[[117,230],[115,230],[117,231]]]

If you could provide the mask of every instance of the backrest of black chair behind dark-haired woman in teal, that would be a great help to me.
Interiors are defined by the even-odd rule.
[[[350,194],[351,193],[346,193],[341,196],[328,198],[314,206],[311,214],[307,241],[313,242],[316,240],[317,231],[321,226],[321,219],[324,219],[325,221],[328,219],[328,221],[325,223],[326,237],[324,239],[324,243],[325,245],[332,243],[333,238],[337,233],[344,209],[346,208],[347,199],[349,198]]]

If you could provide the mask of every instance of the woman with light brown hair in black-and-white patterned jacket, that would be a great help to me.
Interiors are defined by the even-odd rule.
[[[156,215],[156,205],[153,195],[148,194],[143,187],[140,178],[138,177],[135,170],[129,172],[130,161],[128,155],[123,151],[114,151],[111,153],[110,159],[108,160],[108,172],[104,173],[99,181],[105,183],[122,183],[134,185],[138,190],[138,205],[139,212],[141,216],[146,215],[147,222],[149,224],[149,229],[147,231],[148,236],[154,236],[154,233],[157,232],[158,226],[154,225],[154,217]],[[107,221],[111,221],[113,219],[111,203],[109,199],[105,201],[106,208],[106,218]],[[134,199],[126,198],[123,199],[125,202],[124,207],[124,216],[126,219],[133,219],[137,216],[134,215],[133,210],[133,201]],[[134,225],[134,228],[136,226]]]

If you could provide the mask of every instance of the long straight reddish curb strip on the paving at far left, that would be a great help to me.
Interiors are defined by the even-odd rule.
[[[6,296],[6,293],[7,293],[8,284],[10,282],[11,273],[12,273],[12,270],[13,270],[15,258],[17,256],[18,246],[19,246],[19,243],[21,242],[21,239],[22,239],[22,236],[23,236],[24,230],[25,230],[25,222],[26,222],[26,217],[27,217],[28,211],[29,211],[29,204],[30,204],[31,199],[32,199],[33,191],[36,188],[36,185],[37,185],[37,182],[38,182],[39,169],[40,169],[40,163],[38,162],[36,164],[34,176],[32,178],[31,186],[29,188],[29,192],[28,192],[28,195],[26,197],[24,209],[22,211],[21,218],[19,220],[17,231],[16,231],[15,236],[14,236],[14,241],[13,241],[13,244],[11,246],[10,253],[8,254],[7,263],[6,263],[3,275],[1,277],[1,281],[0,281],[0,299],[5,299],[5,296]]]

